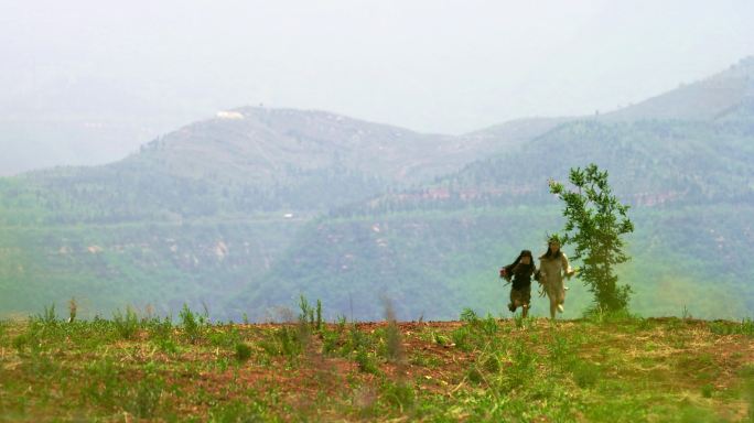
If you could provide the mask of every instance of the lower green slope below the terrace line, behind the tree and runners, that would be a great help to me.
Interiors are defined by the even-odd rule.
[[[636,292],[632,310],[748,316],[752,213],[751,205],[634,210],[633,260],[618,268]],[[385,297],[402,319],[446,319],[463,306],[507,315],[509,288],[497,279],[497,269],[521,249],[543,252],[545,231],[560,227],[558,207],[525,205],[326,219],[310,225],[262,282],[226,308],[234,316],[263,318],[304,293],[322,299],[335,314],[353,311],[359,319],[378,318]],[[569,285],[564,316],[578,317],[591,297],[578,280]],[[547,314],[547,301],[536,293],[532,304],[535,315]]]

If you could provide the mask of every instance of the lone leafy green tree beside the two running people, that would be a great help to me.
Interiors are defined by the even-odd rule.
[[[574,258],[583,267],[579,275],[594,294],[596,307],[620,311],[628,306],[631,286],[618,285],[615,264],[629,259],[623,251],[622,236],[634,231],[634,224],[607,184],[607,172],[592,163],[586,169],[571,169],[570,183],[575,191],[550,180],[550,193],[566,203],[566,232],[563,243],[575,246]]]

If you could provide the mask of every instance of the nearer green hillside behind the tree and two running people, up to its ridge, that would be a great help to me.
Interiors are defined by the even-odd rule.
[[[265,276],[267,289],[250,288],[229,308],[266,310],[304,292],[366,319],[379,315],[383,296],[406,319],[450,318],[463,306],[502,313],[507,289],[497,268],[521,249],[542,250],[545,232],[562,227],[548,178],[595,162],[633,206],[634,260],[620,269],[636,291],[632,310],[748,316],[753,123],[564,123],[434,184],[331,212]],[[571,286],[566,316],[575,317],[590,299],[578,281]],[[534,312],[545,307],[535,303]]]

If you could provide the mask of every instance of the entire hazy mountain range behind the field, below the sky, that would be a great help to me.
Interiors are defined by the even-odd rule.
[[[562,227],[548,180],[589,163],[632,205],[632,310],[751,314],[754,57],[604,115],[444,135],[247,107],[116,163],[0,178],[0,314],[75,297],[88,316],[262,321],[301,294],[331,318],[388,300],[405,319],[498,314],[497,268]],[[570,284],[578,316],[590,299]]]

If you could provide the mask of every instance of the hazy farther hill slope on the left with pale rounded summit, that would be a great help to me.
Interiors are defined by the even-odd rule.
[[[1,178],[0,313],[72,296],[89,316],[128,304],[218,311],[314,216],[457,170],[546,122],[457,138],[241,108],[117,163]]]

